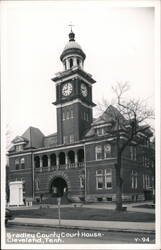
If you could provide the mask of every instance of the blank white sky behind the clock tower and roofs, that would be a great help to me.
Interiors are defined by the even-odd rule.
[[[5,123],[10,139],[29,126],[57,131],[55,84],[70,22],[92,74],[93,101],[113,98],[112,85],[128,81],[128,97],[154,107],[154,9],[112,8],[108,1],[28,1],[3,6],[2,62]],[[97,110],[94,111],[97,115]]]

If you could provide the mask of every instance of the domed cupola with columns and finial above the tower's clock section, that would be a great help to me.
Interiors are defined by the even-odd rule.
[[[85,58],[86,55],[81,46],[75,41],[75,34],[71,30],[69,33],[69,42],[65,45],[60,56],[64,70],[70,70],[76,67],[83,69]]]

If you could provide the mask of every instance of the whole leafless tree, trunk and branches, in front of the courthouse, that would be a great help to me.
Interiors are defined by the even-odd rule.
[[[145,134],[152,136],[148,122],[154,118],[154,112],[143,100],[125,98],[129,90],[127,82],[123,84],[118,82],[112,89],[115,94],[115,104],[110,105],[103,100],[98,107],[108,108],[109,111],[111,109],[113,116],[111,133],[116,140],[116,210],[122,210],[122,155],[128,146],[142,144]]]

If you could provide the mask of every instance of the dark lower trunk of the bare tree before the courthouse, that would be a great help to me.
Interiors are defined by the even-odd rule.
[[[122,210],[122,179],[121,179],[121,156],[118,156],[116,169],[116,210]]]

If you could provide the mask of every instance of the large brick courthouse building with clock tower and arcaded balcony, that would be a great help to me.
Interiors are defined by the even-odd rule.
[[[93,119],[92,86],[95,80],[84,70],[86,55],[71,30],[60,60],[63,71],[52,79],[56,87],[57,133],[48,136],[29,127],[13,140],[8,152],[9,204],[25,201],[54,202],[63,196],[72,202],[115,201],[117,122],[112,105]],[[119,114],[118,114],[119,115]],[[120,114],[121,115],[121,114]],[[127,124],[127,123],[125,123]],[[120,128],[126,140],[126,125]],[[148,199],[154,182],[152,162],[144,145],[129,145],[122,157],[123,200]]]

